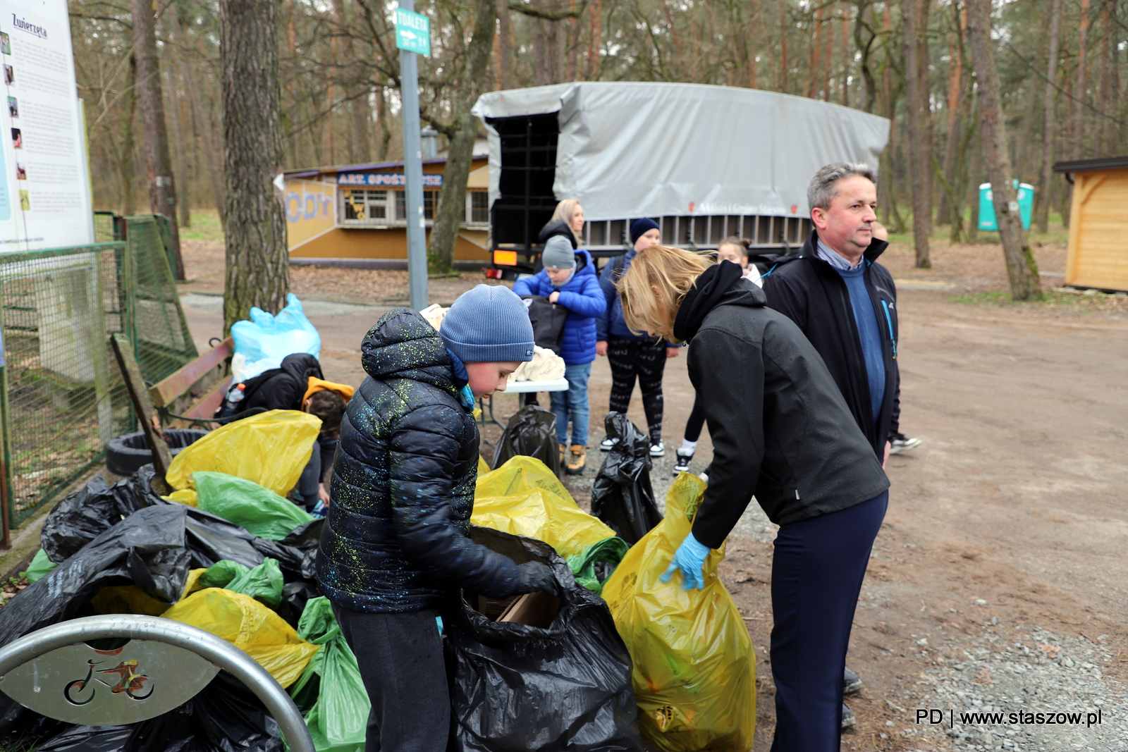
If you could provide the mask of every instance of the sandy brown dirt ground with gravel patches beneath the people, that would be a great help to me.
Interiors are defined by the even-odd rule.
[[[1043,273],[1060,274],[1059,246],[1037,253]],[[887,254],[901,290],[901,426],[924,443],[888,468],[890,510],[849,653],[865,689],[847,700],[858,723],[845,750],[1128,750],[1128,307],[1122,297],[1069,293],[1004,303],[992,294],[1005,289],[1001,256],[994,245],[937,245],[934,268],[918,271],[910,250]],[[199,267],[186,260],[193,276]],[[336,285],[352,284],[354,271],[299,272],[292,284],[307,300],[344,301],[307,310],[323,336],[326,377],[359,383],[360,339],[387,308],[350,304],[361,295]],[[323,277],[331,292],[319,292]],[[440,294],[479,278],[464,275]],[[396,294],[385,292],[393,280],[380,284],[372,282],[378,294]],[[202,282],[183,287],[201,345],[220,327],[219,299],[200,294],[214,291]],[[668,361],[664,384],[670,449],[652,471],[659,497],[693,404],[685,357]],[[606,360],[597,359],[591,446],[603,435],[609,387]],[[500,416],[515,409],[513,396],[495,401]],[[637,393],[631,417],[644,424]],[[598,450],[589,458],[588,472],[569,479],[581,504],[601,461]],[[706,431],[694,470],[710,458]],[[752,504],[722,565],[758,657],[757,751],[770,746],[774,724],[766,647],[773,534]],[[946,729],[914,723],[917,708],[1103,715],[1090,728]]]

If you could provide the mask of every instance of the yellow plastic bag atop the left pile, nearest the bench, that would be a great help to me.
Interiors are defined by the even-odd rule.
[[[192,474],[212,470],[254,480],[285,496],[309,462],[320,430],[321,419],[309,413],[271,410],[252,415],[187,446],[173,459],[165,479],[173,488],[194,489]]]

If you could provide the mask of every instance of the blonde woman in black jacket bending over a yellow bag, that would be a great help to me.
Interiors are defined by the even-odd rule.
[[[837,752],[854,609],[889,480],[822,359],[728,260],[652,246],[618,283],[635,331],[688,342],[713,440],[708,488],[663,578],[702,565],[752,496],[779,525],[772,563],[774,752]]]

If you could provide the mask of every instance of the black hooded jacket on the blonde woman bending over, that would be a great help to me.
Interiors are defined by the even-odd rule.
[[[694,537],[710,548],[724,542],[754,495],[785,525],[889,488],[822,359],[725,262],[702,274],[675,324],[673,335],[690,342],[689,380],[713,439],[708,488],[694,519]]]

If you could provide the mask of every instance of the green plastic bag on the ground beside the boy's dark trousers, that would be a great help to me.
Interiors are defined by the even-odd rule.
[[[320,645],[290,695],[302,709],[317,752],[363,752],[371,705],[327,598],[306,603],[298,636]]]

